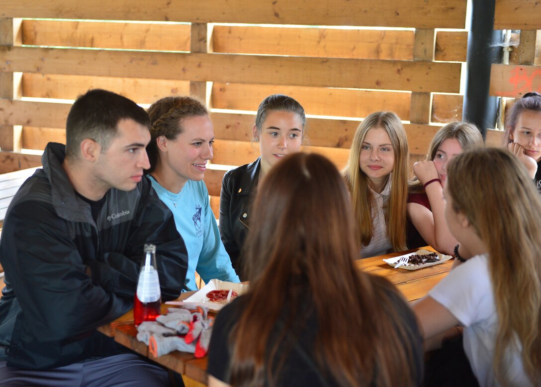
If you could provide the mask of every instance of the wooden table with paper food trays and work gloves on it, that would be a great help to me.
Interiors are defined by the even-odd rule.
[[[427,249],[433,251],[432,248]],[[367,273],[384,276],[400,289],[406,300],[414,301],[426,295],[436,283],[444,278],[451,270],[453,260],[418,270],[395,269],[382,261],[382,259],[396,257],[411,251],[414,250],[358,260],[355,261],[355,266]],[[179,299],[186,299],[189,295],[191,293],[182,294]],[[165,312],[167,307],[168,305],[162,305],[162,312]],[[207,383],[207,358],[196,359],[192,353],[178,351],[159,358],[152,357],[148,351],[148,346],[135,338],[137,331],[133,323],[133,312],[131,311],[116,319],[113,323],[98,328],[98,330],[103,334],[114,337],[115,341],[129,349],[180,373],[183,377],[186,376],[202,384]],[[196,385],[200,385],[199,383]]]

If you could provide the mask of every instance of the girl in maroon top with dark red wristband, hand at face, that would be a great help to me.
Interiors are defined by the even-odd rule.
[[[408,248],[429,244],[440,253],[453,254],[458,242],[444,216],[447,163],[457,154],[481,146],[483,137],[475,125],[450,122],[432,139],[425,161],[413,164],[415,178],[409,183],[406,204]]]

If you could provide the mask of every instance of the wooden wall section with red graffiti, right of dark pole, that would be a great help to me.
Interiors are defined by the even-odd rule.
[[[490,95],[505,97],[509,106],[527,92],[541,92],[541,3],[496,0],[494,29],[520,31],[509,64],[492,64]]]

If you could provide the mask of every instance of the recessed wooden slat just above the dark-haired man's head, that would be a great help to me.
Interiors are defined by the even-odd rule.
[[[126,96],[138,104],[151,104],[167,95],[188,95],[188,81],[115,78],[111,76],[23,74],[23,96],[76,99],[89,89],[101,88]]]

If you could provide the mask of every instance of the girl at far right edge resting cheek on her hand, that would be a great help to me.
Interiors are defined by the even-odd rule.
[[[507,113],[504,146],[524,164],[541,192],[541,94],[526,93]]]

